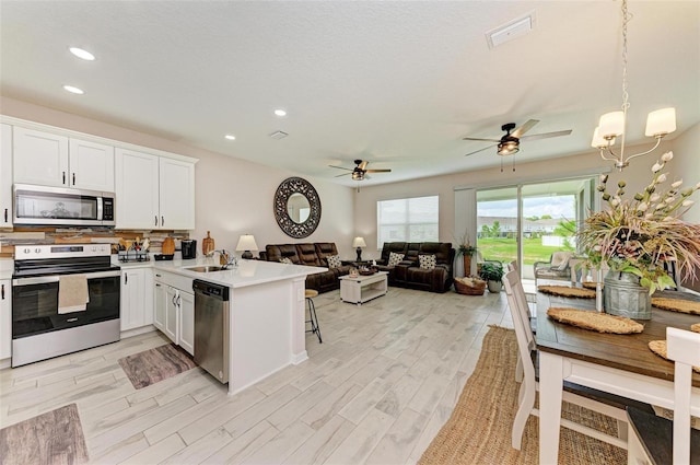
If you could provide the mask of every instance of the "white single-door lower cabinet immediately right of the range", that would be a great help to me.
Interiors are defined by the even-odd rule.
[[[120,295],[121,330],[153,324],[153,274],[150,268],[122,268]]]

